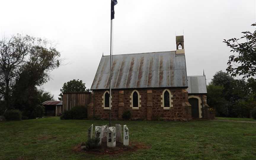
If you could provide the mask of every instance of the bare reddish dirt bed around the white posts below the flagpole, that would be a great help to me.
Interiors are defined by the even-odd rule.
[[[84,150],[84,148],[82,147],[83,143],[73,147],[73,151],[75,152],[87,152],[87,153],[91,153],[91,154],[119,154],[119,153],[124,153],[124,152],[134,152],[137,151],[138,149],[149,149],[151,148],[151,146],[146,145],[145,143],[142,142],[135,142],[132,141],[130,142],[129,146],[124,146],[123,143],[120,142],[116,142],[116,147],[114,148],[108,148],[107,147],[107,142],[103,141],[101,143],[100,148],[98,149],[93,149],[93,150]]]

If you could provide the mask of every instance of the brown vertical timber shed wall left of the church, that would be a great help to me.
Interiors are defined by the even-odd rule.
[[[89,92],[63,93],[63,111],[70,110],[76,106],[87,107],[91,102],[91,94]]]

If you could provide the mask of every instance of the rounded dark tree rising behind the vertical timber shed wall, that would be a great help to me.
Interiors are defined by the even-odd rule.
[[[82,80],[73,79],[67,83],[64,83],[62,89],[60,89],[60,97],[58,98],[60,101],[63,100],[64,92],[90,92],[90,89],[86,89],[85,83],[83,83]]]

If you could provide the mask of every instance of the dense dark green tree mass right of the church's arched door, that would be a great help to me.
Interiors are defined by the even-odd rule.
[[[218,116],[249,117],[256,104],[255,84],[253,78],[244,81],[218,71],[207,86],[207,103],[215,107]]]

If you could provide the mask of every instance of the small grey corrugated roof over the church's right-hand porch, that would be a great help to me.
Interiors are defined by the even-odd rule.
[[[205,76],[188,76],[188,93],[207,93]]]

